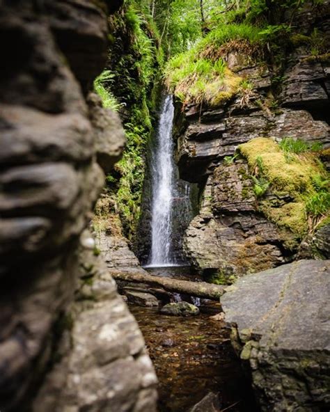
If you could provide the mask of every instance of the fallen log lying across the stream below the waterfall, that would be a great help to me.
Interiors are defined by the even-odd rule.
[[[126,280],[134,283],[148,283],[148,285],[151,286],[161,286],[168,292],[184,293],[215,301],[219,300],[220,296],[222,296],[225,292],[225,287],[220,285],[152,276],[140,271],[120,271],[118,269],[111,269],[110,274],[116,280]]]

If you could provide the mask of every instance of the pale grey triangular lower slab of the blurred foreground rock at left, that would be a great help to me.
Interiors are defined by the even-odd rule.
[[[59,361],[33,411],[156,411],[157,377],[134,317],[102,258],[79,253],[75,302],[60,319]]]

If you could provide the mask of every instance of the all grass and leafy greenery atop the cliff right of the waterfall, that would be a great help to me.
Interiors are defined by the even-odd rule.
[[[321,56],[327,51],[322,33],[317,30],[309,35],[297,33],[294,16],[304,3],[305,0],[173,1],[172,12],[177,8],[181,15],[191,16],[193,12],[201,15],[199,22],[196,16],[191,17],[191,25],[199,24],[200,33],[194,31],[188,50],[182,52],[176,47],[169,53],[166,86],[184,103],[217,106],[238,95],[242,97],[241,106],[248,106],[256,96],[251,85],[244,83],[246,79],[229,70],[226,63],[229,53],[239,54],[242,65],[276,63],[274,79],[280,79],[285,50],[292,44],[308,44],[311,56]],[[317,6],[322,1],[312,3]],[[180,30],[184,37],[187,27],[180,26]]]

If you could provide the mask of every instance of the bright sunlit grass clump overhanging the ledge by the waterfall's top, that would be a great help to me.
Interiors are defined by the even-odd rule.
[[[239,91],[242,78],[231,72],[221,50],[228,42],[242,43],[251,52],[262,47],[260,29],[249,24],[227,24],[208,33],[187,52],[171,58],[165,69],[165,83],[182,102],[223,104]],[[222,56],[221,56],[222,54]]]

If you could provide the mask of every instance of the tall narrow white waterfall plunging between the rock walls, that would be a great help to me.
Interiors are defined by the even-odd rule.
[[[174,264],[171,255],[174,189],[172,96],[162,102],[155,147],[152,152],[151,255],[149,264]]]

